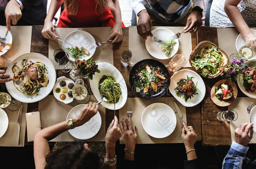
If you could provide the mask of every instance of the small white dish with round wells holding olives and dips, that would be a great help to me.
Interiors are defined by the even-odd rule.
[[[65,88],[68,88],[68,84],[69,84],[69,83],[73,83],[74,85],[75,85],[75,83],[74,83],[74,81],[72,81],[71,79],[66,78],[65,76],[61,76],[61,77],[57,78],[57,81],[56,81],[56,83],[55,83],[55,85],[54,85],[54,87],[53,87],[53,90],[52,90],[54,97],[55,97],[58,101],[62,101],[62,102],[65,103],[65,104],[71,103],[71,102],[73,101],[74,97],[72,97],[72,98],[71,98],[71,97],[68,97],[68,92],[69,92],[69,91],[72,91],[72,89],[69,89],[69,88],[68,88],[68,92],[67,92],[67,93],[62,93],[62,92],[56,93],[56,92],[55,92],[56,88],[64,88],[64,87],[60,87],[60,81],[65,81],[65,82],[66,82],[66,86],[64,86]],[[60,99],[60,95],[61,95],[61,94],[65,94],[65,96],[66,96],[66,99],[65,99],[65,100],[61,100],[61,99]]]

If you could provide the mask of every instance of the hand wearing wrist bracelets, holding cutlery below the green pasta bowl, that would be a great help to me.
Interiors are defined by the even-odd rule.
[[[115,116],[115,119],[112,120],[110,126],[107,129],[105,142],[106,148],[108,147],[115,147],[115,142],[122,136],[122,132],[120,126],[118,124],[118,118]]]

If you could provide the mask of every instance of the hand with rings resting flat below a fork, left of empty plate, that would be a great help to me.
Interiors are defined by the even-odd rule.
[[[136,132],[136,126],[132,127],[128,119],[120,121],[120,129],[122,131],[123,142],[125,143],[125,149],[130,151],[135,150],[138,134]]]

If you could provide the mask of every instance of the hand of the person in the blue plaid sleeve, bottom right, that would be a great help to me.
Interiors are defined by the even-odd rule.
[[[251,129],[251,131],[250,131]],[[251,132],[251,136],[248,136],[249,131]],[[247,146],[248,143],[253,138],[253,123],[244,123],[235,129],[235,142],[241,144],[243,146]]]

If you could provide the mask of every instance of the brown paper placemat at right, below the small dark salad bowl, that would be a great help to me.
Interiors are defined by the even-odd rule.
[[[230,132],[231,132],[231,140],[235,141],[235,129],[238,128],[243,123],[249,123],[248,113],[246,112],[246,108],[250,102],[253,102],[253,106],[256,104],[256,99],[249,97],[238,97],[235,101],[228,106],[229,110],[235,110],[238,113],[238,119],[236,121],[230,122]],[[254,124],[254,127],[255,124]],[[253,134],[253,139],[251,139],[250,143],[256,143],[255,132]]]

